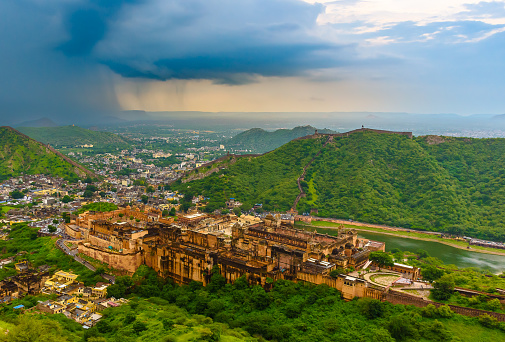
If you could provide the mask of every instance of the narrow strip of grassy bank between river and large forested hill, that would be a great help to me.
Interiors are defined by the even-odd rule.
[[[327,222],[327,221],[313,221],[311,224],[297,222],[297,225],[302,226],[302,227],[315,228],[315,229],[317,229],[317,228],[337,229],[338,227],[340,227],[341,224]],[[466,250],[466,251],[505,256],[505,251],[502,252],[500,250],[494,250],[492,248],[486,248],[486,247],[481,247],[481,246],[471,246],[471,248],[467,248],[468,242],[466,242],[466,241],[458,241],[458,240],[454,240],[454,239],[440,238],[439,236],[436,236],[433,234],[426,234],[423,232],[404,231],[404,230],[397,230],[394,228],[367,227],[367,226],[363,226],[361,224],[358,226],[358,225],[353,225],[353,224],[349,224],[349,223],[344,224],[343,226],[344,226],[344,228],[352,228],[357,231],[367,231],[367,232],[373,232],[373,233],[383,234],[383,235],[398,236],[398,237],[413,239],[413,240],[438,242],[438,243],[441,243],[441,244],[444,244],[447,246],[451,246],[451,247]]]

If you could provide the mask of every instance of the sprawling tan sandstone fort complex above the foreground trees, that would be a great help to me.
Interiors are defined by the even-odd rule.
[[[148,207],[87,212],[66,232],[78,239],[79,253],[130,274],[144,264],[180,284],[206,285],[215,266],[229,282],[245,275],[265,287],[278,279],[321,284],[337,268],[363,267],[373,250],[354,230],[340,229],[336,236],[307,232],[272,215],[249,221],[192,213],[174,221]]]

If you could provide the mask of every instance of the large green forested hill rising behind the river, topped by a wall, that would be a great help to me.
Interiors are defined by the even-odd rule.
[[[297,178],[315,157],[301,182],[308,195],[300,213],[505,241],[505,139],[365,131],[322,147],[326,139],[291,141],[174,187],[209,197],[208,210],[234,197],[246,207],[287,211],[299,194]]]

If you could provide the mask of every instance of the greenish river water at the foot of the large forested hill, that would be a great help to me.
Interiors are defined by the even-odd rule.
[[[336,234],[336,230],[317,228],[319,233]],[[505,256],[484,254],[472,252],[447,246],[434,241],[413,240],[393,235],[384,235],[379,233],[370,233],[359,231],[360,237],[382,241],[386,243],[386,251],[399,248],[402,251],[415,252],[418,249],[424,249],[432,257],[436,257],[446,265],[456,265],[459,268],[475,267],[483,270],[489,270],[495,274],[505,272]]]

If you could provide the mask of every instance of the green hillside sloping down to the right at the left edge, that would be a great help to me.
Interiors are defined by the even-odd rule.
[[[11,127],[0,127],[0,181],[20,174],[47,174],[69,181],[94,176],[61,153]]]

